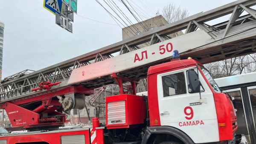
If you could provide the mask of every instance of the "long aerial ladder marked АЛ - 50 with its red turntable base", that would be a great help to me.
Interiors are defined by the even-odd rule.
[[[149,66],[169,60],[175,49],[181,58],[201,63],[254,53],[256,10],[251,7],[255,5],[255,0],[239,0],[47,68],[5,78],[0,81],[0,108],[6,109],[13,127],[60,126],[65,122],[62,110],[81,108],[84,95],[93,94],[94,88],[119,78],[132,82],[134,89]],[[243,12],[247,14],[240,16]],[[228,14],[229,20],[210,24]],[[184,35],[169,37],[179,31]],[[32,91],[43,81],[61,83],[50,90]],[[13,115],[18,112],[18,117]]]

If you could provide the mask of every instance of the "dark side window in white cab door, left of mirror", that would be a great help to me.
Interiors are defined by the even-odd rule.
[[[184,72],[162,77],[163,97],[186,94],[186,82]]]

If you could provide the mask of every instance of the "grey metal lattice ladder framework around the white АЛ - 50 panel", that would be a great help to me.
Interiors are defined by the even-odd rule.
[[[68,81],[74,69],[99,62],[102,63],[104,60],[114,59],[117,56],[121,58],[122,55],[129,55],[133,51],[139,52],[140,49],[146,49],[150,45],[164,43],[166,40],[172,39],[172,37],[169,37],[170,34],[181,30],[183,30],[184,35],[175,38],[180,37],[183,43],[197,43],[197,41],[187,42],[186,38],[182,39],[182,37],[193,33],[195,34],[193,37],[197,37],[199,36],[196,35],[199,29],[211,39],[211,41],[206,41],[200,46],[190,47],[186,51],[183,51],[181,53],[182,58],[189,56],[201,63],[209,63],[253,53],[256,50],[256,40],[254,39],[256,36],[256,10],[252,9],[251,6],[254,5],[256,5],[256,0],[239,0],[204,13],[186,17],[183,20],[170,23],[36,72],[5,78],[0,81],[0,104],[6,101],[19,101],[47,93],[48,91],[46,90],[38,92],[31,91],[32,88],[38,87],[41,81],[51,81],[52,83],[61,82],[61,84],[53,86],[49,92],[63,89],[71,85],[68,84]],[[247,14],[240,16],[242,12],[247,12]],[[209,24],[212,20],[216,20],[227,14],[230,14],[227,17],[227,21],[215,25]],[[119,53],[119,55],[114,56],[116,53]],[[154,63],[157,62],[163,62],[163,58],[154,61]],[[147,74],[148,65],[150,63],[136,68],[125,69],[119,72],[119,75],[133,79],[143,78]],[[79,82],[79,84],[84,87],[96,88],[113,84],[113,82],[114,79],[107,75],[91,78]]]

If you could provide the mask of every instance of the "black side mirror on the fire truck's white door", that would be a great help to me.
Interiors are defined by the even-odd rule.
[[[189,93],[200,92],[200,82],[197,73],[194,70],[188,70],[186,73],[189,81]]]

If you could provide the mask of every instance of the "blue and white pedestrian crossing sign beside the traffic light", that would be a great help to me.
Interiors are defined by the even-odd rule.
[[[62,11],[62,0],[44,0],[44,8],[55,14]]]

